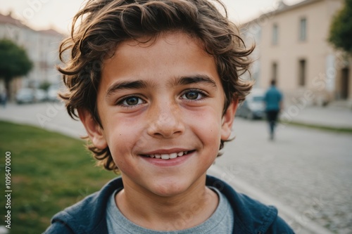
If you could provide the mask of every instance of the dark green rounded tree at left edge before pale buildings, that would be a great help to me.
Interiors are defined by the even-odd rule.
[[[33,63],[24,48],[11,40],[0,39],[0,78],[5,80],[8,98],[11,98],[11,79],[28,74],[32,67]]]

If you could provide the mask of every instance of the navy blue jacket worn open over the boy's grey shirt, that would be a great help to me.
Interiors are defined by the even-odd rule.
[[[234,230],[239,234],[291,234],[291,228],[279,216],[277,209],[265,206],[246,195],[237,193],[224,181],[207,176],[206,186],[218,188],[227,197],[234,211]],[[56,214],[45,234],[104,234],[106,225],[106,205],[116,189],[123,188],[122,179],[115,178],[84,200]]]

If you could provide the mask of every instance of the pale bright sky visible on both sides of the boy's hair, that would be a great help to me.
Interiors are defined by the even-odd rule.
[[[279,0],[222,0],[231,20],[239,23],[252,20],[262,13],[275,9]],[[287,5],[302,0],[284,0]],[[68,33],[70,22],[83,4],[83,0],[0,0],[0,13],[10,11],[34,30],[53,28]]]

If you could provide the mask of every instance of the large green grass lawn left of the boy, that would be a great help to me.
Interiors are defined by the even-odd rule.
[[[0,188],[11,152],[11,234],[42,233],[51,217],[116,175],[96,167],[84,141],[33,126],[0,122]],[[4,201],[4,202],[3,202]],[[1,225],[5,200],[1,198]]]

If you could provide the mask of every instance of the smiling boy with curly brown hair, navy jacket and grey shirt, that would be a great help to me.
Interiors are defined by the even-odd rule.
[[[251,89],[239,75],[253,51],[213,4],[91,0],[77,13],[61,98],[121,177],[46,233],[293,233],[275,208],[206,176]]]

